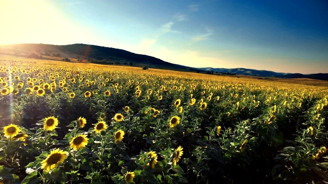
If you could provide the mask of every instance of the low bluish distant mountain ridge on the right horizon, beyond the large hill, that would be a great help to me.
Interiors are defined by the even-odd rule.
[[[248,68],[212,68],[212,67],[200,67],[199,70],[204,71],[213,71],[221,74],[230,74],[230,75],[245,75],[245,76],[258,76],[258,77],[278,77],[278,78],[310,78],[318,80],[328,80],[328,74],[291,74],[291,73],[277,73],[272,71],[265,70],[254,70]]]

